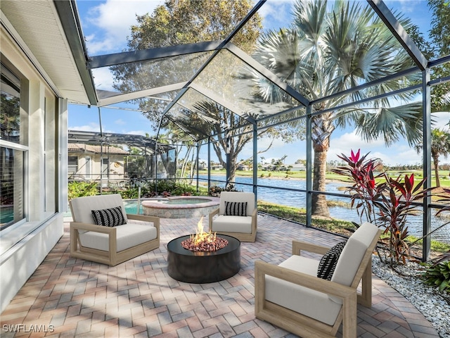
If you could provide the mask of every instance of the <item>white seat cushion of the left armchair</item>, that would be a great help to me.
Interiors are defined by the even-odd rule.
[[[129,220],[127,224],[118,225],[115,229],[117,236],[117,252],[148,242],[155,239],[158,235],[157,230],[152,223],[139,220]],[[109,251],[108,234],[94,231],[80,232],[79,239],[82,246]]]

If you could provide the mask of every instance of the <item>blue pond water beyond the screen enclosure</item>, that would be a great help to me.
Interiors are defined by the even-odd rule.
[[[200,178],[207,179],[207,175],[199,175]],[[224,187],[225,176],[224,175],[212,175],[212,180],[217,180],[215,183],[219,187]],[[205,180],[200,180],[200,182],[207,182]],[[243,190],[245,192],[252,192],[252,186],[244,184],[252,184],[252,177],[236,177],[236,188]],[[304,192],[292,192],[286,191],[279,188],[290,188],[290,189],[306,189],[306,181],[295,180],[295,179],[281,179],[281,178],[260,178],[258,177],[258,184],[269,186],[269,187],[258,187],[257,198],[259,200],[268,201],[275,204],[281,204],[284,206],[293,206],[297,208],[306,207],[306,194]],[[326,192],[343,194],[342,187],[348,184],[341,182],[329,182],[326,184]],[[339,196],[326,196],[329,201],[342,201],[349,203],[349,199]],[[356,212],[356,208],[346,208],[346,207],[330,207],[330,216],[332,218],[337,218],[340,220],[348,220],[355,223],[361,223],[359,216]],[[432,213],[432,230],[439,227],[449,220],[443,220],[442,218],[435,217],[435,212]],[[409,218],[409,233],[416,237],[422,237],[423,233],[423,218],[422,215],[411,216]],[[436,239],[440,242],[450,244],[450,225],[446,225],[437,232],[432,234],[432,239]]]

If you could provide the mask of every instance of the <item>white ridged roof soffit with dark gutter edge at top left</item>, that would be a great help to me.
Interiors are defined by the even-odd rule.
[[[94,97],[89,98],[75,61],[74,51],[66,38],[59,6],[70,6],[70,1],[14,1],[2,0],[1,12],[8,19],[13,29],[19,35],[18,43],[30,61],[38,68],[46,82],[60,97],[84,104],[93,104]],[[72,21],[75,24],[76,11],[72,11]],[[64,18],[66,24],[70,17]],[[73,34],[69,32],[68,34]],[[82,46],[79,46],[81,49]],[[86,67],[84,66],[85,70]],[[89,75],[89,73],[87,73]],[[95,93],[91,91],[91,93]],[[96,100],[94,100],[96,103]]]

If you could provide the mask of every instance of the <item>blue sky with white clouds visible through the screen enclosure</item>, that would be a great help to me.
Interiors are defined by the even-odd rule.
[[[361,0],[364,1],[364,0]],[[366,1],[364,1],[366,2]],[[89,56],[113,54],[123,51],[127,46],[127,37],[130,35],[131,25],[136,24],[136,15],[153,13],[153,9],[163,4],[162,0],[77,0],[82,30],[84,33],[87,51]],[[290,22],[291,6],[293,0],[268,0],[260,8],[259,14],[263,17],[264,30],[267,28],[277,29],[284,27]],[[385,4],[395,11],[404,13],[411,18],[413,23],[420,27],[425,33],[430,30],[430,13],[425,0],[388,0]],[[105,85],[107,77],[103,78],[101,73],[96,73],[96,84]],[[115,132],[123,134],[150,134],[153,136],[152,125],[143,115],[134,111],[132,106],[127,106],[129,110],[119,110],[114,108],[98,108],[82,105],[69,105],[69,129],[84,131],[100,131],[100,123],[103,132]],[[100,117],[101,115],[101,117]],[[444,127],[449,123],[450,112],[439,113],[436,118],[435,127]],[[260,139],[258,149],[265,149],[270,143],[269,139]],[[206,147],[200,151],[200,158],[207,158]],[[386,148],[383,141],[371,142],[370,144],[361,141],[361,137],[355,134],[354,130],[335,130],[330,140],[330,150],[328,151],[328,161],[338,160],[339,154],[349,154],[350,149],[361,149],[363,154],[371,153],[370,157],[383,160],[387,165],[397,164],[418,164],[422,162],[420,154],[411,149],[404,141]],[[266,161],[271,158],[280,158],[286,155],[285,163],[294,163],[297,159],[306,158],[304,142],[295,144],[285,144],[277,139],[272,144],[271,149],[264,154]],[[251,144],[239,155],[239,159],[250,158],[252,156]],[[212,155],[212,159],[215,156]],[[450,160],[442,158],[441,163]]]

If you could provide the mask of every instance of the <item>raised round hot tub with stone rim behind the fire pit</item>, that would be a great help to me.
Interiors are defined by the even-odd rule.
[[[144,215],[160,218],[193,218],[208,215],[219,207],[219,198],[212,196],[172,196],[141,202]]]

